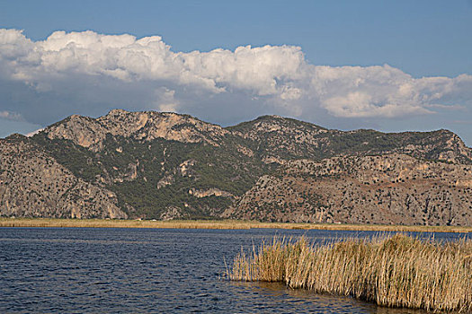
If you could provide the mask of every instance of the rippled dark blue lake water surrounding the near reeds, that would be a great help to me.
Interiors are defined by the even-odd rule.
[[[324,241],[375,233],[0,228],[0,312],[423,313],[222,278],[225,259],[274,234]]]

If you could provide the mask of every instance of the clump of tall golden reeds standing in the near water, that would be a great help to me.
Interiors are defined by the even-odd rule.
[[[286,283],[387,307],[472,312],[472,240],[403,234],[312,246],[278,240],[235,257],[231,280]]]

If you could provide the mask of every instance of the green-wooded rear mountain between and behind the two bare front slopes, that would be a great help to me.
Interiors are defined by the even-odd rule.
[[[133,125],[125,124],[136,123],[137,117],[141,117],[138,115],[147,115],[142,128],[136,133],[120,133],[117,126],[133,129],[128,127]],[[275,116],[221,129],[187,115],[169,115],[121,110],[106,116],[108,122],[100,118],[66,118],[33,136],[31,141],[76,177],[114,192],[120,208],[130,217],[156,219],[168,213],[176,214],[174,218],[218,218],[227,208],[236,206],[261,176],[280,177],[279,167],[293,160],[406,153],[435,161],[451,155],[455,158],[451,162],[472,163],[462,153],[459,138],[444,130],[396,134],[374,130],[343,132]],[[167,130],[163,125],[156,126],[161,122]],[[61,126],[58,133],[49,136],[57,126]],[[80,133],[84,130],[86,133]],[[77,138],[79,134],[93,136],[91,130],[102,133],[91,139],[91,143],[100,143],[90,149],[60,139],[64,134]],[[165,139],[168,134],[174,136],[168,137],[172,140]],[[328,207],[316,193],[303,192],[300,197],[305,200],[297,201],[300,208]],[[272,206],[269,209],[289,210],[287,204]]]

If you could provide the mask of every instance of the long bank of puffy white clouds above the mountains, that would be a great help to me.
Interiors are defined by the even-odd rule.
[[[45,99],[107,103],[103,109],[195,113],[204,110],[202,103],[214,111],[218,105],[211,103],[225,100],[238,102],[238,109],[295,117],[324,110],[334,118],[401,118],[464,108],[472,99],[468,74],[414,78],[389,65],[312,65],[294,46],[174,52],[159,36],[137,39],[94,31],[56,31],[33,41],[22,31],[0,30],[0,69],[1,80],[21,83]],[[96,86],[111,95],[99,95]],[[123,90],[134,98],[113,98]],[[0,117],[7,118],[8,110],[13,109],[0,111]]]

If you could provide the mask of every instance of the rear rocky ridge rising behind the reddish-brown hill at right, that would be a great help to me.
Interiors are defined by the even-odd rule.
[[[447,130],[382,133],[362,129],[343,132],[278,116],[264,116],[228,129],[244,137],[251,147],[272,161],[405,153],[429,160],[472,163],[472,150],[458,135]]]

